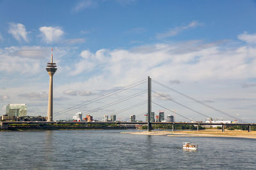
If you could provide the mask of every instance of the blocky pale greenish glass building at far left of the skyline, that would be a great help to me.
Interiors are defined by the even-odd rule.
[[[26,117],[27,105],[26,104],[8,104],[6,106],[6,115],[14,117]]]

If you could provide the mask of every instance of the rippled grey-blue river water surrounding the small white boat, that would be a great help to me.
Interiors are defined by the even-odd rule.
[[[0,169],[256,169],[256,139],[124,131],[0,132]],[[198,151],[182,150],[183,142]]]

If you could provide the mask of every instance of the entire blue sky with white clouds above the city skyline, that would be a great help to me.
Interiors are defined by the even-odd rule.
[[[246,122],[256,122],[256,1],[0,1],[0,115],[26,103],[46,116],[53,60],[54,120],[77,112],[101,118],[147,101],[147,82],[61,113],[134,82],[152,78],[152,111],[176,121],[234,120],[156,81]],[[193,108],[205,116],[184,108]],[[166,110],[166,108],[168,110]],[[96,111],[97,110],[97,111]],[[116,115],[145,120],[147,104]],[[178,114],[184,116],[180,117]]]

